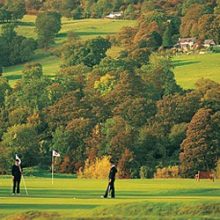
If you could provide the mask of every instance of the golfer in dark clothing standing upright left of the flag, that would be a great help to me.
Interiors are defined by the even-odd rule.
[[[13,179],[13,195],[15,194],[15,191],[17,194],[19,194],[22,171],[21,171],[21,166],[20,166],[18,159],[15,160],[15,164],[12,166],[11,173],[12,173],[12,179]]]

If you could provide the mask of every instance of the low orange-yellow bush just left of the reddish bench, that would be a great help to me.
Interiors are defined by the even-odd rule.
[[[154,178],[177,178],[179,177],[179,167],[169,166],[164,168],[157,168]]]

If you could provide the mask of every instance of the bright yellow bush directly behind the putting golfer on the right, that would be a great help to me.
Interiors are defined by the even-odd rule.
[[[106,179],[111,167],[110,157],[103,156],[95,161],[86,160],[84,169],[77,173],[78,178]]]

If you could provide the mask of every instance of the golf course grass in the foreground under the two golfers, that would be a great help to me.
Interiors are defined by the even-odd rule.
[[[116,199],[102,199],[105,180],[27,177],[29,196],[0,182],[0,219],[220,219],[220,180],[117,180]]]

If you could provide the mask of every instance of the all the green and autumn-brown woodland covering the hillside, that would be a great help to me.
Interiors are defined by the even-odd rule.
[[[2,7],[12,7],[13,2]],[[38,47],[50,48],[61,28],[63,6],[55,8],[60,2],[79,3],[42,2],[40,8],[47,6],[48,11],[36,19]],[[94,6],[112,2],[83,1],[79,7],[92,13]],[[85,161],[92,164],[106,155],[116,161],[122,178],[140,173],[152,177],[157,168],[168,166],[174,166],[168,171],[175,173],[178,166],[184,177],[216,168],[220,85],[202,79],[194,90],[183,90],[176,84],[170,53],[163,48],[179,36],[219,43],[219,2],[117,2],[119,10],[124,5],[126,10],[139,8],[137,27],[87,41],[68,33],[67,41],[53,48],[63,61],[54,78],[44,76],[40,64],[27,64],[13,88],[0,78],[2,173],[15,153],[25,166],[49,166],[52,149],[62,155],[57,161],[60,172],[76,173]],[[25,62],[36,48],[35,41],[17,36],[14,23],[3,26],[0,67]],[[123,48],[115,59],[106,55],[112,45]]]

